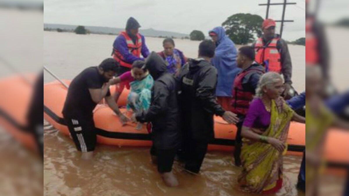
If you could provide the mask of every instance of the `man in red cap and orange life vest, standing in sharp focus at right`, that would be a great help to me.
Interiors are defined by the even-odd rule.
[[[292,88],[292,62],[287,43],[275,34],[276,23],[272,19],[266,19],[262,23],[263,36],[253,44],[256,55],[255,61],[266,68],[266,72],[275,71],[284,76],[285,91],[283,96],[294,96]]]

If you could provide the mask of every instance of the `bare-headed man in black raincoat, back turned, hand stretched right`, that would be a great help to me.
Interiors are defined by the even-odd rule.
[[[224,111],[215,96],[217,70],[210,63],[215,54],[215,45],[203,41],[199,45],[199,58],[189,59],[181,68],[180,108],[182,110],[182,131],[185,169],[199,173],[207,146],[214,139],[213,116],[218,115],[228,123],[239,121],[236,114]]]

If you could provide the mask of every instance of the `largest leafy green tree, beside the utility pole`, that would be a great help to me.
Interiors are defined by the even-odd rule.
[[[262,35],[263,18],[252,14],[234,14],[222,23],[227,35],[236,44],[253,42],[255,36]]]

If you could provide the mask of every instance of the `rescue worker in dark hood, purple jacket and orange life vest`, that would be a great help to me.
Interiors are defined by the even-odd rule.
[[[114,41],[112,56],[120,63],[119,71],[117,73],[118,76],[130,71],[134,61],[144,61],[144,58],[149,56],[149,50],[144,36],[138,32],[140,27],[141,25],[136,21],[136,19],[133,17],[128,18],[126,31],[121,31]],[[143,58],[141,57],[141,54]],[[129,89],[129,85],[126,83],[116,85],[116,93],[114,94],[114,99],[116,101],[119,99],[125,86]]]

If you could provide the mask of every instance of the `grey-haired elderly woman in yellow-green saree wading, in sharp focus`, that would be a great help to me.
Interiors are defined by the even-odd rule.
[[[242,128],[240,188],[250,193],[276,193],[282,187],[282,156],[287,151],[290,121],[305,123],[283,100],[283,78],[264,74]],[[302,133],[300,133],[302,134]]]

